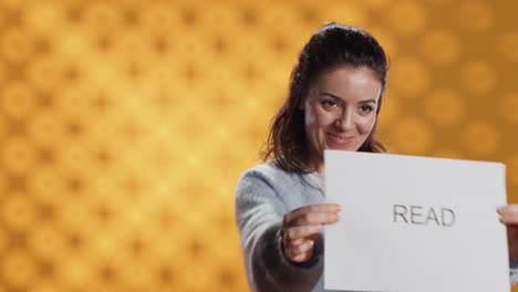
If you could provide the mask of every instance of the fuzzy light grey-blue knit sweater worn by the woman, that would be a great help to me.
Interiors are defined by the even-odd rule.
[[[252,291],[324,291],[322,236],[315,241],[313,257],[302,264],[284,258],[279,236],[284,213],[324,201],[322,175],[290,174],[273,161],[242,174],[236,188],[236,221]],[[518,262],[510,261],[510,268],[514,283],[518,281]]]

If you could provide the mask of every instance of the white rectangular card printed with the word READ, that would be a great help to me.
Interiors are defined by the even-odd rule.
[[[508,292],[505,165],[325,150],[324,288]]]

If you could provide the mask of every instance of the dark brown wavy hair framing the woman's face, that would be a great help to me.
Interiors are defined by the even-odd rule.
[[[382,84],[376,116],[386,88],[388,62],[383,48],[366,31],[335,22],[317,30],[303,46],[294,65],[288,96],[274,116],[261,157],[289,173],[314,171],[309,161],[309,145],[304,131],[304,112],[299,105],[307,98],[313,82],[322,72],[340,66],[369,67]],[[385,153],[385,147],[375,139],[376,122],[359,152]]]

